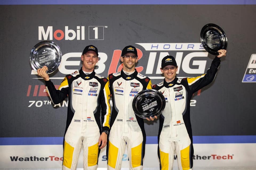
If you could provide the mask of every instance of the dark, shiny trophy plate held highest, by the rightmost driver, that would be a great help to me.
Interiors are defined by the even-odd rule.
[[[227,37],[225,32],[216,24],[206,24],[200,33],[200,40],[203,48],[215,56],[218,50],[227,48]]]

